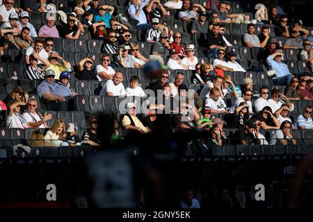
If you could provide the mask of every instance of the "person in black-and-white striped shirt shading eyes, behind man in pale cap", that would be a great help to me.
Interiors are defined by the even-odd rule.
[[[38,60],[40,60],[44,66],[42,68],[38,67]],[[43,79],[45,76],[45,70],[49,67],[50,62],[40,57],[38,53],[33,52],[31,56],[29,56],[30,64],[26,66],[24,69],[24,76],[27,76],[29,80],[33,79]]]

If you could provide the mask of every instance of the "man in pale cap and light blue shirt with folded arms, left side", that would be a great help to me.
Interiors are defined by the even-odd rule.
[[[46,100],[48,110],[68,111],[69,101],[73,98],[72,90],[59,83],[55,83],[54,71],[49,69],[45,73],[45,80],[37,86],[37,94]]]

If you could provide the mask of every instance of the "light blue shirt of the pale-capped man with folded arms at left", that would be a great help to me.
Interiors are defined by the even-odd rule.
[[[49,83],[47,80],[43,80],[37,86],[37,94],[42,97],[47,91],[50,91],[55,96],[72,96],[72,90],[62,83]]]

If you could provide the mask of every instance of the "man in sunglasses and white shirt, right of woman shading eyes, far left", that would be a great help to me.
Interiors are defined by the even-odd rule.
[[[29,128],[49,128],[47,121],[52,118],[52,114],[45,113],[42,115],[41,112],[36,111],[38,108],[38,101],[35,98],[27,101],[27,110],[22,114]]]

